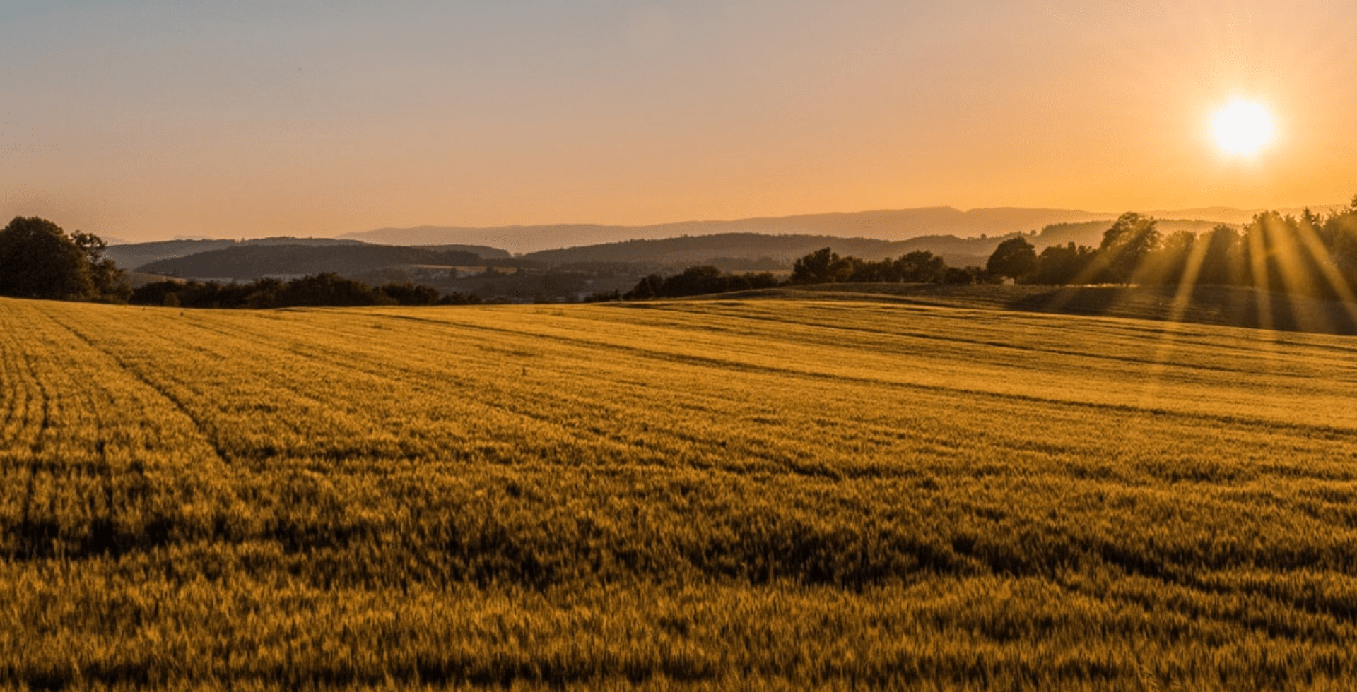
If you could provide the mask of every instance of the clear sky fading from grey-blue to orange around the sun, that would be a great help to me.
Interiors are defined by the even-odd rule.
[[[1350,0],[3,0],[0,216],[125,240],[1357,194]],[[1254,156],[1209,136],[1265,107]]]

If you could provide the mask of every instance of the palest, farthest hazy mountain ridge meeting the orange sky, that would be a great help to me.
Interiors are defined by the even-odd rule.
[[[1333,208],[1342,205],[1331,205]],[[1329,209],[1316,208],[1316,210]],[[1152,210],[1156,218],[1182,218],[1204,223],[1242,224],[1261,209],[1234,209],[1224,206]],[[1278,209],[1299,214],[1300,209]],[[923,235],[954,235],[978,237],[1030,232],[1049,224],[1111,221],[1120,216],[1107,212],[1079,209],[988,208],[961,210],[951,206],[916,209],[885,209],[874,212],[844,212],[828,214],[801,214],[784,217],[740,218],[734,221],[681,221],[653,225],[601,224],[546,224],[505,227],[434,227],[379,228],[339,237],[404,244],[487,244],[516,254],[541,250],[622,243],[626,240],[658,240],[665,237],[718,233],[810,235],[835,237],[866,237],[877,240],[908,240]]]

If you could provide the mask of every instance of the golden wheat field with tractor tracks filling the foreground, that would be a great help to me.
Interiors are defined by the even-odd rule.
[[[1357,339],[0,300],[8,689],[1357,688]]]

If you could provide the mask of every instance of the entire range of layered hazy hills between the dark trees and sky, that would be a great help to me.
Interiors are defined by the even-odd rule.
[[[1255,213],[1205,208],[1151,212],[1151,216],[1159,218],[1159,229],[1167,235],[1175,231],[1201,233],[1219,223],[1248,221]],[[1185,217],[1187,218],[1183,220]],[[376,275],[373,273],[387,271],[392,275],[411,275],[411,271],[425,271],[419,267],[482,266],[484,261],[623,274],[678,271],[693,265],[716,265],[727,271],[744,271],[786,269],[797,258],[822,247],[862,259],[894,258],[925,250],[951,266],[982,266],[1000,242],[1018,233],[1029,237],[1038,251],[1065,243],[1098,246],[1103,231],[1111,225],[1111,214],[1061,209],[961,212],[927,208],[649,227],[421,227],[351,233],[368,242],[356,237],[266,237],[119,244],[110,246],[106,256],[129,270],[224,280],[319,271],[345,275]],[[737,228],[742,231],[731,231]],[[816,232],[794,232],[797,229]],[[619,236],[620,240],[562,247],[563,239]],[[514,256],[499,247],[472,243],[478,239],[518,247],[520,254]],[[413,244],[399,244],[400,242]],[[521,250],[531,244],[547,244],[551,248]]]

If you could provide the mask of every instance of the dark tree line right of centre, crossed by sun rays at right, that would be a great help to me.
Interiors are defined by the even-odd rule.
[[[1128,212],[1103,232],[1098,247],[1056,244],[1039,254],[1025,236],[1000,243],[984,267],[947,266],[921,250],[879,261],[840,256],[825,247],[795,261],[791,275],[726,274],[696,266],[681,274],[651,274],[613,300],[697,296],[797,284],[987,284],[1041,285],[1231,285],[1357,300],[1357,197],[1346,209],[1300,217],[1265,212],[1236,231],[1220,224],[1206,233],[1160,233],[1149,216]],[[609,296],[596,296],[607,300]]]

